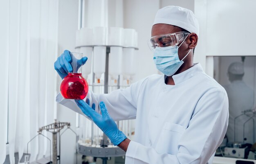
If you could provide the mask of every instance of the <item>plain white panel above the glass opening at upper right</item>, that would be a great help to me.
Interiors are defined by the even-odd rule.
[[[207,55],[256,55],[255,6],[255,0],[207,0]]]

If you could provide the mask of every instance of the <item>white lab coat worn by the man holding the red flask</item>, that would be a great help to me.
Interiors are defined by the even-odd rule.
[[[175,85],[166,85],[164,75],[152,75],[110,94],[89,92],[114,120],[136,118],[126,164],[212,163],[227,131],[227,93],[199,63],[173,79]],[[60,94],[56,100],[81,113],[74,101]]]

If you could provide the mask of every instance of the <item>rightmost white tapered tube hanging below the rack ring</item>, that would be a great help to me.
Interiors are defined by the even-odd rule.
[[[129,85],[130,77],[135,74],[134,69],[134,48],[123,48],[122,74]]]

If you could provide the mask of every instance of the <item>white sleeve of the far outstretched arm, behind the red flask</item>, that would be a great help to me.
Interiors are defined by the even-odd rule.
[[[99,103],[103,101],[106,104],[110,116],[115,121],[134,119],[136,118],[137,112],[137,97],[139,95],[141,85],[144,83],[144,81],[146,81],[146,79],[147,78],[133,83],[126,89],[115,90],[110,94],[94,94],[91,90],[89,90],[84,101],[86,98],[89,98],[90,106],[92,103],[95,103],[95,110],[99,113]],[[56,102],[85,116],[74,100],[65,99],[60,93],[56,97]]]

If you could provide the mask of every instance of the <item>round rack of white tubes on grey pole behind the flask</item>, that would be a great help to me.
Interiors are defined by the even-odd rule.
[[[85,56],[89,54],[88,60],[90,58],[90,52],[92,52],[92,83],[89,85],[90,90],[96,94],[109,93],[113,90],[117,90],[120,87],[125,88],[128,85],[121,86],[120,75],[122,73],[122,54],[124,48],[128,48],[126,55],[134,56],[134,50],[138,49],[135,47],[137,45],[137,32],[134,29],[127,29],[126,33],[126,46],[124,46],[124,28],[120,27],[110,27],[110,36],[108,37],[108,31],[106,27],[94,27],[92,28],[93,36],[89,28],[81,28],[81,46],[76,46],[75,48],[80,48],[80,52],[83,52]],[[93,39],[91,39],[93,38]],[[108,42],[107,42],[108,40]],[[130,48],[130,49],[129,49]],[[130,53],[130,54],[129,54]],[[133,60],[128,59],[126,62],[132,62]],[[88,61],[87,61],[88,62]],[[128,66],[132,66],[129,63]],[[85,64],[85,66],[88,63]],[[90,63],[89,63],[90,65]],[[84,66],[84,68],[85,68]],[[91,67],[88,66],[88,67]],[[86,73],[83,73],[86,79],[90,79],[90,68],[88,68]],[[130,69],[130,68],[129,68]],[[129,79],[135,74],[134,69],[127,71]],[[102,76],[103,75],[103,76]],[[109,78],[110,77],[110,78]],[[130,85],[130,83],[129,83]],[[85,118],[84,116],[78,116],[78,131],[79,131],[79,141],[78,141],[78,151],[84,156],[99,157],[103,160],[103,164],[106,164],[110,157],[124,156],[125,152],[119,147],[112,145],[109,138],[103,134],[101,129],[97,127],[91,120]],[[125,131],[127,137],[132,138],[134,135],[134,129],[131,129],[131,120],[117,121],[117,126],[121,131]],[[125,127],[125,128],[123,128]]]

